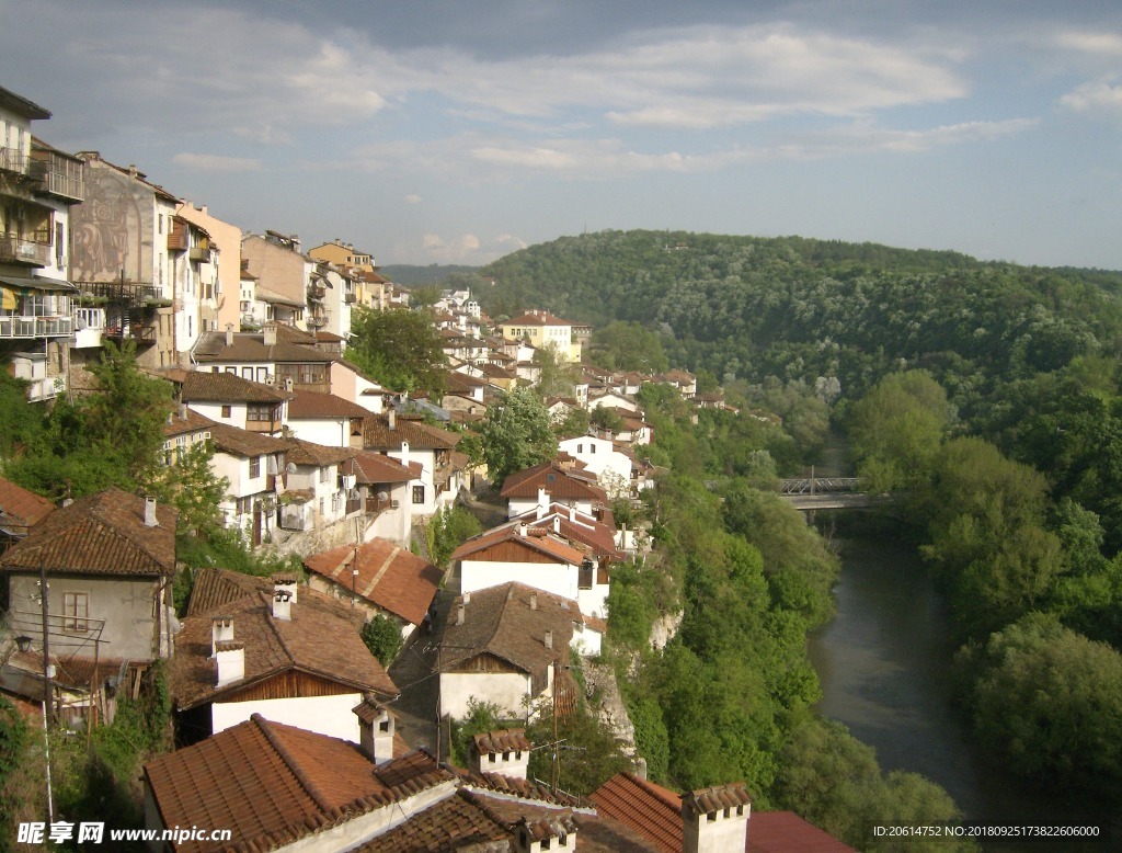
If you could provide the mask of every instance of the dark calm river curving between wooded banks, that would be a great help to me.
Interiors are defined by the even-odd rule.
[[[822,686],[818,712],[873,746],[885,772],[918,772],[941,785],[968,822],[1097,823],[1105,829],[1111,817],[1104,808],[1024,790],[1000,764],[983,758],[953,704],[949,614],[919,556],[894,539],[891,523],[846,526],[837,538],[837,616],[809,642]],[[1112,834],[1122,842],[1118,828]],[[1033,849],[1063,847],[1045,843]]]

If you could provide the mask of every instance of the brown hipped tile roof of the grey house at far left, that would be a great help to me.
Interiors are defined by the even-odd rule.
[[[172,507],[158,505],[158,524],[146,526],[144,498],[107,489],[50,513],[27,539],[0,557],[0,568],[27,571],[45,566],[52,572],[80,575],[172,575],[178,515]]]

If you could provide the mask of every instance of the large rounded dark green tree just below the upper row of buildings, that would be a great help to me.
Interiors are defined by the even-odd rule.
[[[356,309],[347,357],[394,391],[420,391],[440,400],[448,387],[443,340],[424,311]]]

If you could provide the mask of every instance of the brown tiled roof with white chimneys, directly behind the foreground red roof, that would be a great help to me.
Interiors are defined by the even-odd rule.
[[[359,693],[396,695],[397,686],[370,654],[355,622],[305,597],[301,589],[289,620],[274,618],[272,585],[208,612],[193,609],[183,620],[171,664],[169,685],[178,708],[221,701],[289,671],[307,672]],[[218,670],[211,657],[212,616],[232,618],[233,641],[245,645],[245,678],[222,687],[215,687]]]

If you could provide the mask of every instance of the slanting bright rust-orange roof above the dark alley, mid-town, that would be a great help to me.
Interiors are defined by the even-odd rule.
[[[356,595],[414,625],[424,621],[442,577],[427,560],[378,538],[360,545],[357,554],[353,545],[343,545],[305,557],[304,566],[347,589],[353,584]]]

